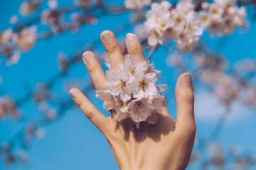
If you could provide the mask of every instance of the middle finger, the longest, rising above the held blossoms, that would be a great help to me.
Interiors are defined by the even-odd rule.
[[[117,69],[118,64],[124,63],[124,55],[121,47],[115,38],[114,33],[110,30],[105,30],[101,33],[100,39],[105,47],[107,56],[110,59],[110,65],[112,69]]]

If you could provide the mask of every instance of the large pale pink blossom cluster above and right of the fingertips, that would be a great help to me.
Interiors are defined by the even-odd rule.
[[[203,23],[191,1],[180,1],[176,8],[171,8],[169,1],[151,4],[144,26],[149,33],[149,45],[173,40],[177,42],[178,50],[185,53],[193,48],[203,34]]]

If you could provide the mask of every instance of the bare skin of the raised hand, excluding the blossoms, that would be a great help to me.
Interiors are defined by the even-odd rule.
[[[110,58],[111,68],[117,69],[118,64],[124,63],[117,39],[109,30],[102,32],[100,37]],[[137,62],[145,60],[142,45],[136,35],[127,34],[126,45],[128,53],[134,55]],[[95,54],[87,51],[82,55],[82,60],[90,72],[95,88],[104,89],[105,73]],[[75,103],[106,137],[119,168],[124,170],[186,169],[196,136],[193,83],[189,73],[181,74],[178,78],[175,93],[176,121],[163,104],[163,109],[158,114],[158,123],[140,123],[138,130],[129,118],[118,122],[114,120],[114,111],[110,112],[110,117],[106,117],[80,90],[70,90]]]

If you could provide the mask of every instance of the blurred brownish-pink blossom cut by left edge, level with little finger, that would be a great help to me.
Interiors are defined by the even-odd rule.
[[[16,103],[11,96],[0,96],[0,120],[6,118],[7,115],[11,115],[15,119],[20,117]]]

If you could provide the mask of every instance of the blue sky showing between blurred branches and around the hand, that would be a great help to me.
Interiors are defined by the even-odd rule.
[[[73,0],[59,1],[59,6],[72,3]],[[9,18],[18,14],[20,4],[19,0],[0,1],[0,30],[10,27]],[[44,7],[46,7],[46,3],[43,4],[42,8]],[[37,15],[38,13],[35,14],[35,16]],[[251,15],[249,14],[249,16]],[[26,20],[26,18],[23,19]],[[128,21],[129,13],[124,13],[119,16],[102,18],[98,21],[97,26],[84,26],[77,34],[68,32],[40,40],[30,52],[21,56],[21,61],[18,64],[6,67],[4,63],[1,63],[0,73],[4,82],[0,84],[0,88],[16,99],[21,98],[27,91],[35,88],[38,81],[47,81],[51,75],[59,71],[56,64],[59,52],[63,51],[67,55],[73,55],[73,52],[79,50],[80,47],[98,38],[103,30],[113,30]],[[221,50],[217,49],[226,57],[230,65],[242,58],[255,58],[255,49],[252,46],[255,44],[256,22],[251,19],[250,22],[250,30],[243,34],[237,30],[232,37],[227,39],[228,43],[221,47]],[[38,28],[38,30],[44,29],[46,28]],[[124,42],[125,35],[130,32],[133,30],[128,29],[119,35],[120,42]],[[219,41],[219,38],[209,38],[208,33],[205,33],[202,38],[213,49]],[[103,45],[100,45],[97,50],[103,52]],[[176,118],[174,86],[178,74],[172,68],[166,67],[166,53],[166,50],[159,49],[154,54],[152,62],[156,65],[156,69],[162,71],[159,81],[167,83],[169,86],[169,90],[165,94],[171,97],[168,102],[169,111],[173,118]],[[80,81],[85,84],[87,74],[81,61],[70,69],[65,81],[60,81],[53,86],[53,91],[61,98],[69,98],[63,83]],[[94,92],[88,97],[100,111],[107,115],[107,112],[102,109],[102,102],[95,98]],[[215,96],[199,86],[196,89],[197,134],[208,137],[222,110],[221,103]],[[215,142],[221,145],[224,151],[228,151],[233,145],[238,145],[245,152],[256,153],[255,111],[241,106],[240,103],[235,103],[231,110],[231,117]],[[23,111],[23,115],[31,119],[38,118],[40,115],[32,102],[22,106],[21,111]],[[23,123],[18,123],[12,118],[1,121],[0,142],[8,140],[23,126]],[[4,163],[0,161],[0,169],[118,169],[105,137],[78,108],[70,108],[63,118],[44,128],[46,137],[43,140],[34,140],[32,147],[28,150],[28,165],[4,166]],[[197,169],[197,167],[193,166],[189,169]]]

